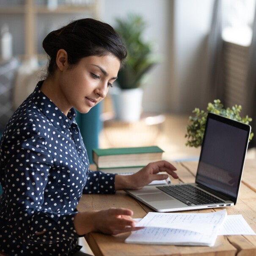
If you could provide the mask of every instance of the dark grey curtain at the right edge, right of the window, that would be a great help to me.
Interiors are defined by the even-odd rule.
[[[251,146],[256,146],[256,10],[252,27],[252,41],[248,54],[248,70],[247,70],[247,93],[248,102],[246,107],[246,113],[253,118],[251,122],[252,132],[254,133],[253,140],[250,142]]]

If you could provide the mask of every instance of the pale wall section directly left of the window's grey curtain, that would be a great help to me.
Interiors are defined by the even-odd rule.
[[[169,110],[190,113],[205,108],[207,36],[212,0],[175,0],[173,6]]]

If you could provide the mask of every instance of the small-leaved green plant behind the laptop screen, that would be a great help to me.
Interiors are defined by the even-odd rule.
[[[252,118],[248,116],[241,117],[241,110],[241,105],[235,105],[225,109],[219,99],[215,99],[213,103],[209,102],[206,111],[195,108],[193,110],[195,115],[189,117],[189,123],[187,124],[187,133],[185,135],[185,138],[187,138],[186,146],[198,148],[202,145],[206,118],[209,112],[249,124]],[[252,138],[253,132],[250,133],[250,140]]]

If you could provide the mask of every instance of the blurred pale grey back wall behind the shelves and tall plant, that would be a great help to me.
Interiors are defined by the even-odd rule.
[[[156,52],[162,57],[162,63],[151,70],[151,80],[144,86],[145,111],[190,113],[195,107],[205,107],[202,91],[213,1],[102,1],[102,20],[110,25],[115,26],[115,18],[125,17],[129,12],[143,15],[148,22],[144,38],[156,43]],[[14,15],[1,14],[0,26],[6,21],[10,24],[14,34],[14,53],[20,54],[24,52],[24,20],[21,14]],[[36,29],[38,51],[43,52],[41,41],[50,30],[84,16],[39,14]]]

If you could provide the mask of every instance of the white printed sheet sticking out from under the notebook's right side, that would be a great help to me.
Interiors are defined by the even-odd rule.
[[[241,214],[228,215],[218,235],[256,235]]]

